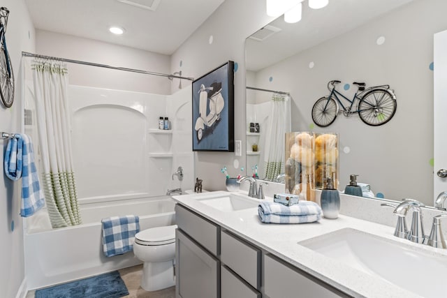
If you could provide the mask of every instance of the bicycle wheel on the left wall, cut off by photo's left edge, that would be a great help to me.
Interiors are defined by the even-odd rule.
[[[0,96],[5,107],[11,107],[14,101],[14,73],[8,50],[3,43],[0,50]]]

